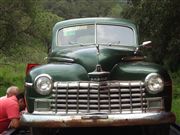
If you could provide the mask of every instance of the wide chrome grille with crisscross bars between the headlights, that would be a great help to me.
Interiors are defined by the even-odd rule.
[[[55,82],[51,110],[62,114],[145,112],[141,81]]]

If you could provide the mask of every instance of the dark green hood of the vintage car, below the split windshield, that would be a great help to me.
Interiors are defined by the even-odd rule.
[[[48,58],[48,63],[70,62],[82,65],[87,72],[92,72],[97,64],[102,69],[110,71],[115,64],[126,56],[134,55],[134,47],[99,46],[99,53],[95,45],[86,47],[59,48],[54,50]]]

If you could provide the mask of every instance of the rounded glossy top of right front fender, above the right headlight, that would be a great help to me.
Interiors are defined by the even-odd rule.
[[[170,81],[170,77],[161,66],[148,62],[123,62],[116,64],[111,70],[111,80],[142,80],[149,73],[158,73],[164,81]]]

